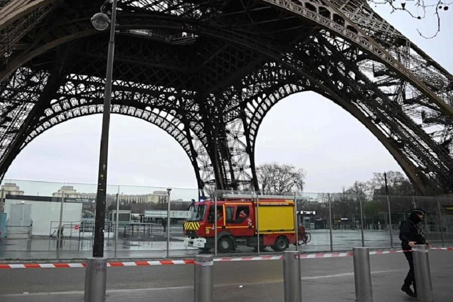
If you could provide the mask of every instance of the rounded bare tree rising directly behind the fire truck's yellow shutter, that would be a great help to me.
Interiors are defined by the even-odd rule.
[[[302,191],[305,185],[305,171],[292,165],[267,163],[257,168],[258,184],[263,194]]]

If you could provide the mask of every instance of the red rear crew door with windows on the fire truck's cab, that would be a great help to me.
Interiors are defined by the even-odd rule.
[[[255,219],[251,204],[225,206],[226,229],[236,237],[254,236]]]

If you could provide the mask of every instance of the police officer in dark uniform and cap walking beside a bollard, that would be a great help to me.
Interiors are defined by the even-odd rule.
[[[406,278],[404,279],[404,284],[401,287],[401,290],[406,292],[411,297],[417,296],[417,287],[415,285],[415,275],[414,275],[414,261],[412,259],[412,248],[416,244],[427,244],[425,241],[425,235],[418,229],[417,224],[421,222],[425,216],[425,211],[423,209],[415,208],[410,211],[409,218],[401,222],[400,225],[400,240],[403,254],[406,256],[407,261],[409,262],[409,272],[407,273]],[[411,284],[414,286],[414,291],[411,289]]]

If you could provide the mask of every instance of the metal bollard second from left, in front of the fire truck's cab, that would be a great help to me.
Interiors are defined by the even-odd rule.
[[[195,255],[194,261],[194,302],[212,302],[212,269],[214,257],[212,255]]]

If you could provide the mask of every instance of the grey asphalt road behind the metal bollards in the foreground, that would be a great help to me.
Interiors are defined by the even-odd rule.
[[[453,252],[430,251],[436,301],[453,300]],[[415,301],[400,290],[407,273],[402,254],[370,256],[374,301]],[[301,260],[304,302],[354,301],[352,257]],[[0,270],[1,302],[82,302],[85,270]],[[193,265],[113,267],[107,302],[193,301]],[[283,301],[282,261],[216,262],[214,302]],[[242,286],[241,286],[242,285]]]

